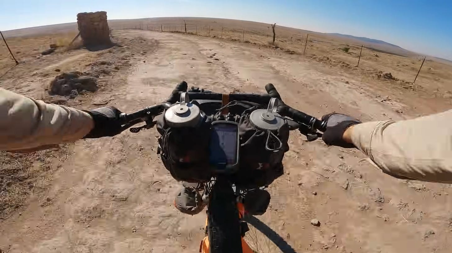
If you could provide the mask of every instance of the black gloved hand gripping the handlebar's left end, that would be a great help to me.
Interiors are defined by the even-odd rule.
[[[88,112],[93,118],[94,127],[91,131],[83,137],[85,138],[100,138],[105,136],[115,136],[123,129],[119,121],[121,111],[112,106],[101,107]]]

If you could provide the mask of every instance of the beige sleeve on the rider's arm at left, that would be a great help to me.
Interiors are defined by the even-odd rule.
[[[94,127],[88,113],[0,88],[0,150],[73,142]]]

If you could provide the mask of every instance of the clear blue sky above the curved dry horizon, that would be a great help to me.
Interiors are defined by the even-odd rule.
[[[0,30],[75,22],[79,12],[108,19],[244,19],[390,42],[452,60],[451,0],[0,0]]]

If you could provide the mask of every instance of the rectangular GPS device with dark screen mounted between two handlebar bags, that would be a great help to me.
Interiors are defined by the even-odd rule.
[[[232,172],[239,164],[239,125],[232,121],[212,123],[209,163],[218,173]]]

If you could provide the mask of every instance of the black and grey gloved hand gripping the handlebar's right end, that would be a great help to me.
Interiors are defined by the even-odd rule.
[[[359,120],[345,114],[331,112],[322,117],[326,121],[326,130],[322,140],[326,145],[339,146],[343,148],[354,148],[352,143],[344,140],[344,132],[348,127],[361,123]]]

